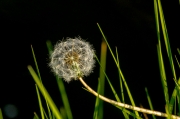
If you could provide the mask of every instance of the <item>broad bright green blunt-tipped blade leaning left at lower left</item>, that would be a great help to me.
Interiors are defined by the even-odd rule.
[[[47,92],[47,90],[43,86],[42,82],[38,78],[37,74],[35,73],[35,71],[33,70],[33,68],[30,65],[28,66],[28,70],[29,70],[30,74],[32,75],[34,81],[36,82],[36,84],[37,84],[39,90],[41,91],[42,95],[44,96],[44,98],[46,98],[46,100],[47,100],[47,102],[48,102],[52,112],[54,113],[55,117],[57,119],[62,119],[61,114],[60,114],[58,108],[54,104],[54,102],[51,99],[49,93]]]

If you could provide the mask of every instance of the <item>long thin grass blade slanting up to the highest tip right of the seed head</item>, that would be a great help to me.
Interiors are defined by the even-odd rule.
[[[136,106],[135,103],[134,103],[133,97],[132,97],[132,95],[131,95],[131,92],[130,92],[130,90],[129,90],[129,87],[128,87],[127,83],[126,83],[126,80],[125,80],[125,78],[124,78],[124,76],[123,76],[123,74],[122,74],[122,71],[121,71],[121,69],[120,69],[120,67],[119,67],[119,65],[118,65],[118,62],[117,62],[117,60],[116,60],[116,58],[115,58],[115,56],[114,56],[114,54],[113,54],[113,52],[112,52],[112,50],[111,50],[111,47],[110,47],[110,45],[108,44],[107,39],[106,39],[106,37],[105,37],[105,35],[104,35],[104,33],[103,33],[100,25],[99,25],[98,23],[97,23],[97,25],[98,25],[99,30],[100,30],[100,32],[101,32],[101,34],[102,34],[102,36],[103,36],[103,38],[104,38],[107,46],[108,46],[108,49],[109,49],[110,52],[111,52],[111,55],[112,55],[112,57],[113,57],[113,59],[114,59],[114,61],[115,61],[115,64],[116,64],[117,68],[118,68],[118,72],[119,72],[119,74],[121,75],[121,77],[122,77],[122,79],[123,79],[123,83],[124,83],[125,88],[126,88],[126,90],[127,90],[129,99],[130,99],[132,105],[133,105],[133,106]],[[139,113],[138,113],[137,111],[135,111],[135,114],[137,115],[137,117],[139,117]]]

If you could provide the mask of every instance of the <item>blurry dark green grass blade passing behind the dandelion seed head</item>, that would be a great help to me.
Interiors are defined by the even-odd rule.
[[[51,52],[53,50],[53,46],[52,46],[51,41],[49,41],[49,40],[46,41],[46,45],[47,45],[49,54],[51,54]],[[60,91],[60,94],[61,94],[62,102],[64,104],[64,108],[66,110],[67,117],[68,117],[68,119],[73,119],[71,108],[70,108],[70,105],[69,105],[69,101],[68,101],[68,97],[67,97],[67,94],[66,94],[66,90],[65,90],[65,87],[64,87],[63,80],[56,77],[56,81],[57,81],[58,88],[59,88],[59,91]]]

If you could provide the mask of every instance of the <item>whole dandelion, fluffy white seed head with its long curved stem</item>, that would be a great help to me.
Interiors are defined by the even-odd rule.
[[[67,38],[66,41],[57,43],[50,58],[51,62],[49,66],[52,68],[55,74],[57,74],[61,78],[64,78],[64,80],[67,82],[73,79],[78,79],[90,93],[103,101],[121,108],[132,109],[134,111],[153,114],[161,117],[170,116],[172,119],[180,119],[180,117],[176,115],[168,115],[159,111],[144,109],[117,102],[112,99],[106,98],[94,91],[82,79],[83,76],[87,76],[92,72],[95,63],[94,50],[89,43],[83,41],[80,37],[75,39]]]

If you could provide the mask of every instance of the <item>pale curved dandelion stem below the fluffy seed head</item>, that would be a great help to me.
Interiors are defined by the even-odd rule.
[[[161,117],[168,117],[168,115],[166,113],[163,112],[159,112],[159,111],[154,111],[154,110],[149,110],[149,109],[144,109],[144,108],[140,108],[140,107],[136,107],[136,106],[132,106],[132,105],[128,105],[128,104],[124,104],[124,103],[120,103],[114,100],[111,100],[109,98],[106,98],[100,94],[98,94],[96,91],[94,91],[91,87],[89,87],[84,80],[79,77],[79,80],[81,81],[81,83],[87,88],[87,90],[92,93],[93,95],[95,95],[96,97],[99,97],[101,100],[106,101],[112,105],[115,106],[119,106],[119,107],[123,107],[123,108],[127,108],[127,109],[131,109],[134,111],[139,111],[139,112],[143,112],[143,113],[147,113],[147,114],[152,114],[152,115],[156,115],[156,116],[161,116]],[[179,116],[176,115],[171,115],[171,119],[180,119]]]

